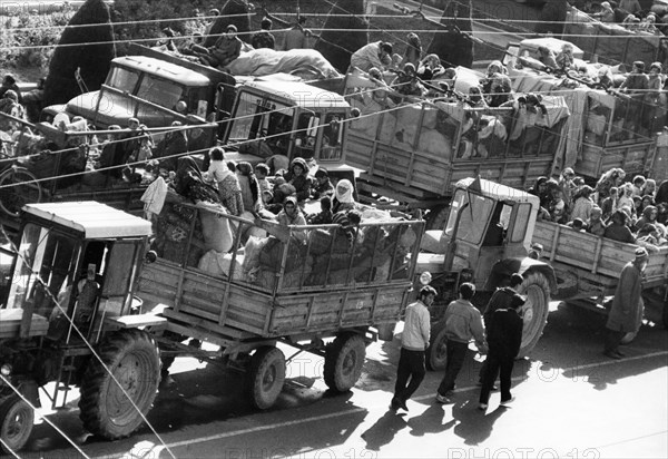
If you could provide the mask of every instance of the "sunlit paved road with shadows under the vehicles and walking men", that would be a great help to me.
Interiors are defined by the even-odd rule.
[[[668,457],[668,333],[644,326],[628,358],[601,355],[602,316],[553,303],[531,360],[517,364],[512,408],[475,409],[480,363],[471,360],[453,404],[433,403],[441,374],[429,373],[409,413],[387,411],[397,341],[374,343],[355,389],[332,395],[322,359],[298,355],[278,403],[255,412],[243,379],[190,359],[177,361],[177,385],[158,395],[147,428],[116,442],[90,438],[71,409],[49,414],[90,457],[169,458],[619,458]],[[286,352],[286,355],[289,353]],[[473,353],[471,353],[473,355]],[[43,423],[24,457],[79,455]],[[38,457],[38,456],[35,456]]]

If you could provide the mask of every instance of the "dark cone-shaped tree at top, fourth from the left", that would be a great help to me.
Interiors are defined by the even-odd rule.
[[[473,66],[473,40],[471,39],[471,0],[449,0],[441,17],[443,31],[436,31],[426,53],[438,55],[446,65]]]

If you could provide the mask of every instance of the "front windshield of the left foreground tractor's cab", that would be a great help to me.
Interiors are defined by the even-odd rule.
[[[31,304],[35,313],[47,319],[58,315],[53,299],[71,284],[68,277],[73,273],[77,252],[73,238],[35,224],[26,225],[7,307]]]

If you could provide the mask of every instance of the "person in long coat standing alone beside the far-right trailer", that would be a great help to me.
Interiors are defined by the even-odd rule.
[[[603,354],[610,359],[621,359],[619,344],[627,333],[638,332],[642,324],[642,272],[647,267],[649,254],[645,247],[636,248],[636,260],[621,270],[615,291],[612,307],[606,323],[606,345]]]

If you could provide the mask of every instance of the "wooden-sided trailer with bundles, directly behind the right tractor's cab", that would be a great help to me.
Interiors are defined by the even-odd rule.
[[[482,78],[462,67],[456,74],[453,88],[466,95]],[[355,75],[346,88],[362,116],[346,129],[343,162],[362,170],[360,191],[429,211],[429,230],[442,227],[460,179],[481,176],[528,188],[560,160],[569,118],[560,96],[544,97],[546,115],[538,116],[519,105],[478,108],[443,99],[387,106],[373,89],[370,95],[373,84]]]

